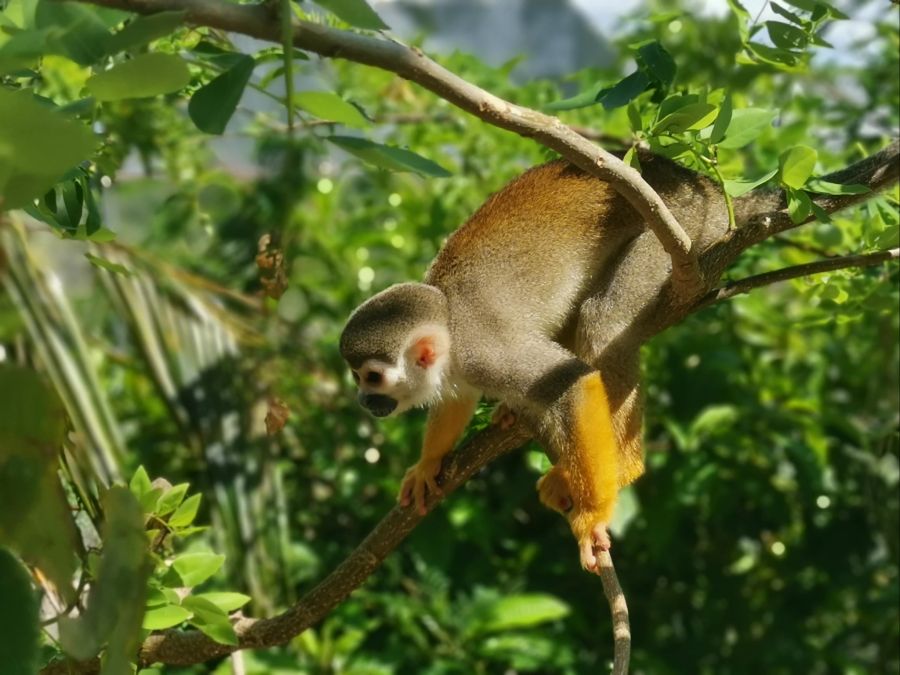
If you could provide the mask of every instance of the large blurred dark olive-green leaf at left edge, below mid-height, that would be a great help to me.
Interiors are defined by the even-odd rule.
[[[55,392],[32,370],[0,366],[0,545],[73,596],[76,532],[57,476],[66,417]]]

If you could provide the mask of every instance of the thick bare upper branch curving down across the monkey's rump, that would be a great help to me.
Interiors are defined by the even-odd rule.
[[[279,42],[278,17],[267,5],[238,5],[222,0],[81,0],[138,14],[185,11],[200,26]],[[476,87],[425,56],[392,40],[300,21],[294,45],[330,58],[347,59],[396,73],[494,126],[534,138],[584,171],[607,181],[641,214],[672,258],[672,275],[682,300],[703,290],[690,237],[640,173],[597,147],[558,118],[524,108]]]

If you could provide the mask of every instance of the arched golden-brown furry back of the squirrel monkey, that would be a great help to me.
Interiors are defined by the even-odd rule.
[[[447,295],[451,316],[462,297],[492,323],[515,311],[509,318],[520,326],[524,312],[536,330],[557,331],[605,258],[640,231],[618,213],[623,206],[607,183],[567,162],[535,167],[450,236],[426,282]]]

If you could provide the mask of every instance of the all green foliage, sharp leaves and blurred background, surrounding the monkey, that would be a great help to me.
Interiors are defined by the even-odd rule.
[[[317,4],[334,16],[292,7],[383,27],[362,0]],[[858,59],[826,60],[856,8],[773,2],[764,21],[731,4],[629,17],[621,63],[563,83],[442,63],[602,129],[631,161],[646,143],[732,196],[785,188],[800,221],[810,194],[837,189],[818,176],[897,135],[896,22],[846,48]],[[184,19],[0,11],[0,353],[28,365],[0,370],[0,587],[23,598],[21,634],[0,638],[22,636],[23,664],[37,658],[31,584],[57,608],[44,660],[108,643],[113,672],[150,630],[232,642],[230,614],[271,615],[339,563],[393,504],[422,422],[360,413],[335,349],[344,319],[421,277],[490,191],[547,157],[391,74]],[[895,189],[814,213],[728,274],[895,247],[896,203]],[[268,233],[277,301],[258,293]],[[896,279],[844,270],[757,291],[646,348],[649,469],[614,524],[635,672],[896,672]],[[272,397],[290,414],[268,437]],[[498,461],[322,625],[248,653],[246,672],[601,669],[608,611],[535,499],[545,468],[535,448]],[[231,666],[191,672],[212,667]]]

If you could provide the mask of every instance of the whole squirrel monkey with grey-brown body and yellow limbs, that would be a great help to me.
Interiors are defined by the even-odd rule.
[[[696,211],[721,203],[711,181],[668,160],[641,161],[663,199],[681,204],[670,204],[681,222],[709,222]],[[658,264],[641,268],[648,252]],[[566,515],[582,566],[596,570],[618,489],[643,472],[637,319],[669,274],[668,256],[628,203],[557,160],[488,199],[424,283],[397,284],[358,307],[340,350],[359,402],[377,417],[430,408],[400,503],[425,513],[478,400],[498,399],[555,460],[540,499]]]

